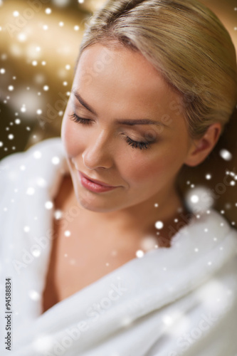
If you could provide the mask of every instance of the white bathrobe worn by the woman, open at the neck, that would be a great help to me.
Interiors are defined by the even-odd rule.
[[[41,315],[63,145],[44,140],[0,163],[1,355],[237,355],[237,231],[221,214],[194,216],[171,248],[133,258]]]

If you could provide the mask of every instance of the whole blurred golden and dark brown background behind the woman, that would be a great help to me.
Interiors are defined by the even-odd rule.
[[[104,2],[0,0],[0,159],[60,136],[84,24]],[[237,48],[237,0],[201,2],[221,19]],[[219,155],[223,148],[232,154],[229,161]],[[223,189],[226,171],[233,173],[236,184]],[[214,207],[237,224],[236,112],[205,162],[181,170],[181,191],[191,184],[212,189],[218,196]]]

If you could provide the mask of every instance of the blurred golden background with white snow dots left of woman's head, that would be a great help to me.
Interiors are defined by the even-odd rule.
[[[1,0],[0,159],[58,136],[84,21],[101,4]]]

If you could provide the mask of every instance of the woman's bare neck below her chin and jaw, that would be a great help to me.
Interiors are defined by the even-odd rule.
[[[68,195],[70,196],[70,202],[78,205],[71,181],[70,194]],[[120,236],[121,234],[156,236],[159,240],[159,246],[167,247],[169,247],[172,236],[181,227],[189,223],[189,218],[192,215],[186,209],[174,182],[167,188],[166,192],[162,190],[162,192],[152,196],[147,201],[142,201],[142,203],[129,206],[126,209],[98,213],[79,207],[82,209],[84,219],[93,221],[93,226],[105,226],[105,229],[116,231]],[[156,221],[162,221],[164,224],[162,229],[156,229],[154,226]]]

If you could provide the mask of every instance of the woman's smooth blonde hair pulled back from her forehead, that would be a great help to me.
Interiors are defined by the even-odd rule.
[[[95,43],[142,53],[181,93],[192,138],[214,122],[223,132],[237,102],[236,51],[221,21],[199,1],[109,0],[85,23],[78,61]]]

